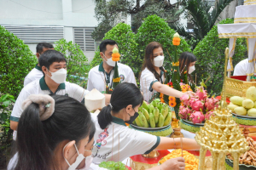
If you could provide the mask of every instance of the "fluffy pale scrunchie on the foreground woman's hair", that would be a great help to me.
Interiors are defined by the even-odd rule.
[[[48,94],[32,94],[22,103],[22,109],[25,110],[32,103],[38,104],[40,120],[48,119],[55,111],[55,100]]]

